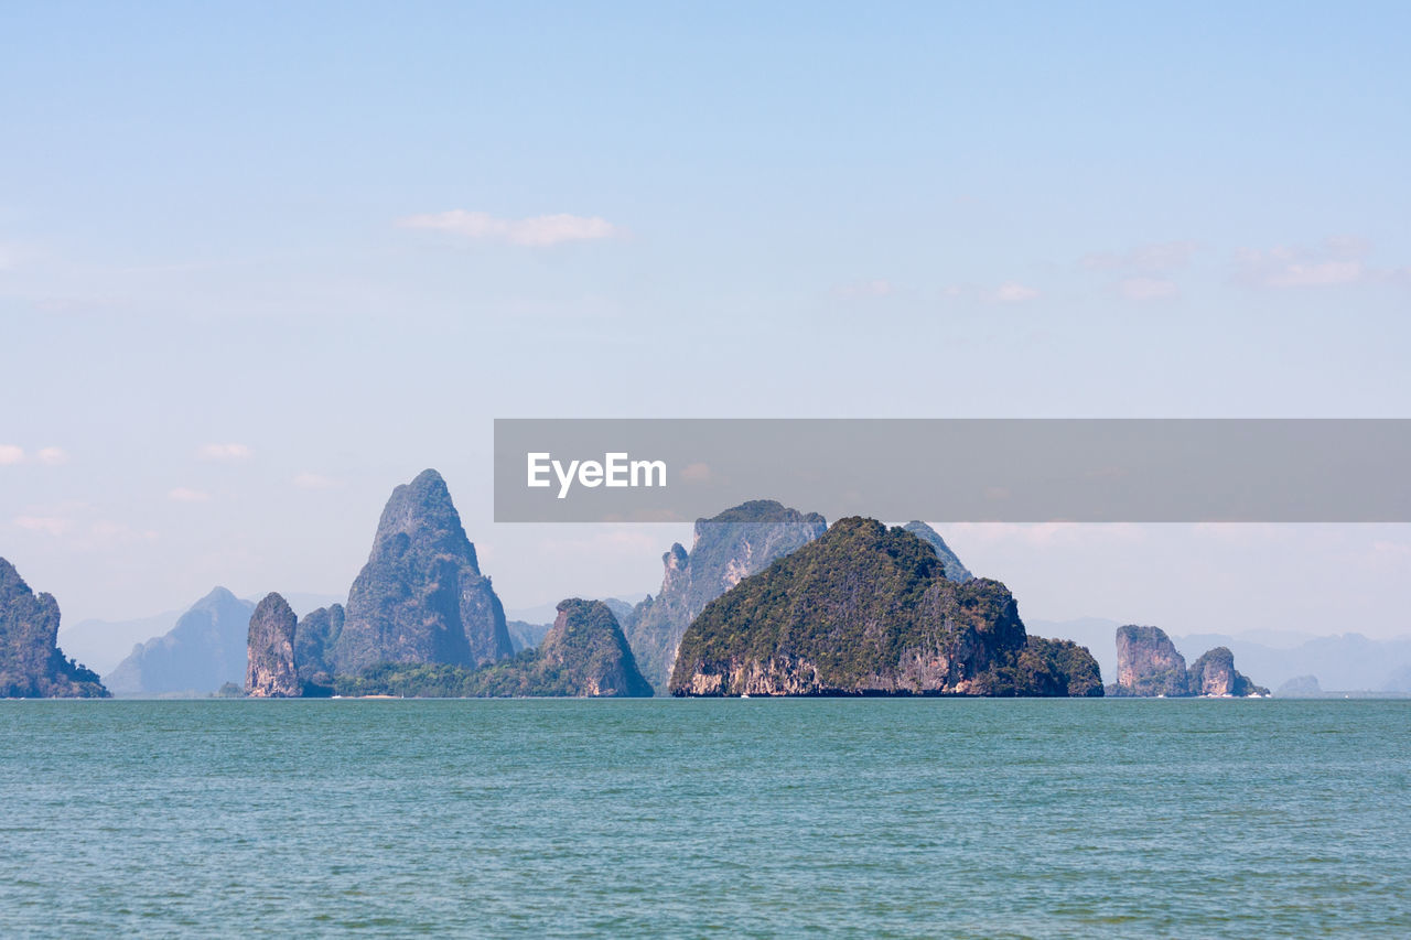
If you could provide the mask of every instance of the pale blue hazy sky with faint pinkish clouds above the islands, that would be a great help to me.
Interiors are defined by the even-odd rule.
[[[507,605],[655,591],[689,526],[490,521],[495,416],[1411,412],[1404,3],[584,6],[6,6],[66,621],[344,593],[428,466]],[[1411,632],[1407,526],[941,529],[1036,617]]]

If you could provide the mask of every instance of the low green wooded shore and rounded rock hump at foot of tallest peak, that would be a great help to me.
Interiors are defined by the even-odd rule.
[[[538,648],[480,669],[450,663],[382,663],[339,676],[343,696],[406,697],[645,697],[652,686],[636,668],[617,618],[601,601],[566,600]]]

